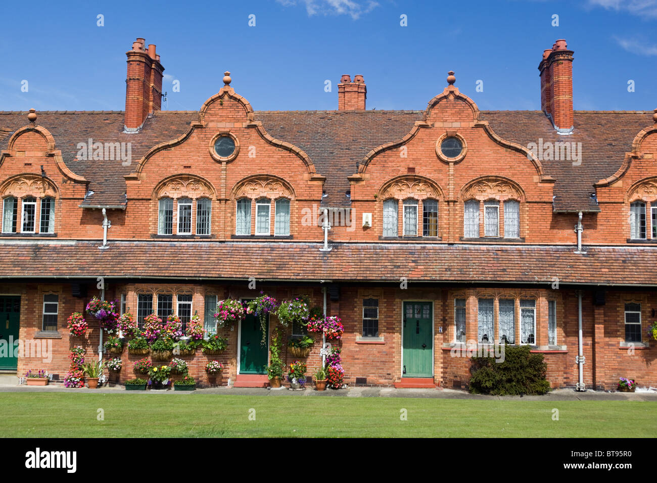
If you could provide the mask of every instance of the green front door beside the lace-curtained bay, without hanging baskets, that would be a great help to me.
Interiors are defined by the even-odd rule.
[[[431,302],[404,302],[402,377],[432,377],[433,314]]]

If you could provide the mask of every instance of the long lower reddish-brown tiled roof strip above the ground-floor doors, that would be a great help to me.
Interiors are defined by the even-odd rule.
[[[0,277],[657,286],[657,248],[252,242],[0,242]],[[171,256],[175,253],[176,256]],[[29,275],[26,275],[29,274]]]

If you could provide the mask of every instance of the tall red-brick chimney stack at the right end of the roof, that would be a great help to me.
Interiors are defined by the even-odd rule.
[[[541,72],[541,110],[549,114],[560,133],[573,128],[573,51],[564,39],[543,51]]]

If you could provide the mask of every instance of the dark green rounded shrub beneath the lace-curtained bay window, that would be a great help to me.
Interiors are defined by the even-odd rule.
[[[545,394],[547,363],[543,354],[532,354],[529,346],[504,347],[504,361],[495,357],[472,357],[470,392],[497,396]]]

